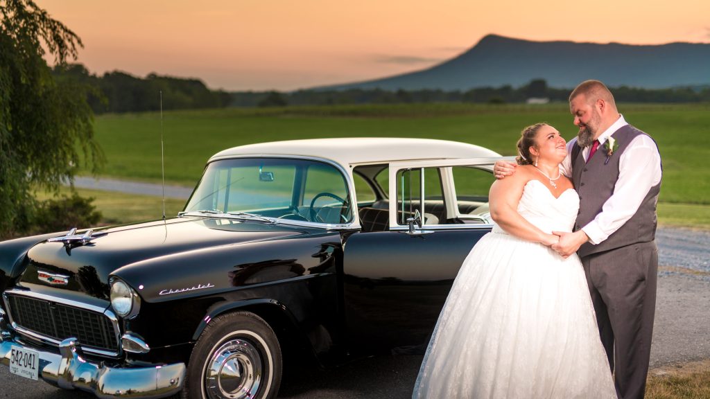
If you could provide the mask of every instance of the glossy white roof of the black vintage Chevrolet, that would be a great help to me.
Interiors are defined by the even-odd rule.
[[[220,151],[209,158],[246,155],[299,155],[333,160],[340,165],[398,160],[488,158],[500,154],[474,144],[430,138],[315,138],[248,144]]]

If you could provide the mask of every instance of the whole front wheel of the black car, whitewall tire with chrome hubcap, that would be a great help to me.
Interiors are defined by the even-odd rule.
[[[182,396],[275,398],[282,363],[278,339],[261,317],[251,312],[220,315],[207,324],[192,349]]]

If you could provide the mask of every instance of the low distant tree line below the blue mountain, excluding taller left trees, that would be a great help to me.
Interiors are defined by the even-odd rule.
[[[710,86],[678,87],[671,89],[639,89],[635,87],[611,87],[618,102],[685,103],[710,102]],[[528,99],[548,99],[550,102],[567,102],[571,88],[547,87],[545,80],[532,80],[522,87],[479,87],[466,91],[435,89],[397,90],[348,89],[298,90],[296,92],[234,92],[231,106],[287,106],[287,105],[332,105],[332,104],[394,104],[422,102],[471,102],[471,103],[524,103]]]

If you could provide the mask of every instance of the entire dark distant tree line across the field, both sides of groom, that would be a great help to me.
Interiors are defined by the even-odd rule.
[[[210,90],[197,79],[150,74],[145,78],[125,72],[106,72],[92,75],[81,64],[62,65],[53,69],[63,80],[77,80],[90,87],[88,102],[95,114],[106,112],[142,112],[160,109],[160,91],[163,92],[163,109],[204,109],[226,106],[298,106],[333,104],[402,104],[427,102],[469,102],[488,104],[524,103],[528,99],[548,99],[550,102],[567,102],[570,88],[548,87],[542,79],[531,80],[514,88],[478,87],[469,90],[444,91],[420,89],[396,91],[383,89],[347,90],[297,90],[295,92],[225,92]],[[671,89],[639,89],[611,87],[618,102],[710,102],[710,86],[676,87]]]

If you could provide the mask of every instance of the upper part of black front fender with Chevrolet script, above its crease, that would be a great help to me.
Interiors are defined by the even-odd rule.
[[[335,241],[335,244],[334,244]],[[190,300],[228,295],[261,285],[335,273],[333,251],[337,234],[304,234],[199,248],[131,263],[114,270],[146,302]]]

